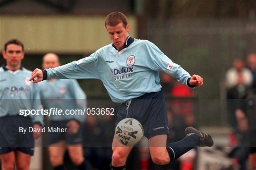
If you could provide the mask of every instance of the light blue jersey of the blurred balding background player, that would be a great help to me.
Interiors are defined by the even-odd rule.
[[[50,115],[50,120],[76,119],[83,122],[85,115],[70,114],[70,110],[84,110],[86,94],[76,80],[51,79],[39,83],[40,97],[44,109],[63,110],[62,115]],[[67,113],[67,114],[66,114]]]

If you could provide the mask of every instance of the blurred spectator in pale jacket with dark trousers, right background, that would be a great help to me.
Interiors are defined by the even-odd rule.
[[[247,92],[253,83],[253,76],[248,68],[244,67],[242,59],[235,59],[233,67],[229,68],[226,73],[225,85],[227,88],[229,121],[232,127],[237,128],[235,112],[237,109],[245,110]]]

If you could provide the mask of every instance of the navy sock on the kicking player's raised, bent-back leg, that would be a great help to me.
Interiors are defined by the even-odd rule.
[[[182,140],[167,144],[166,149],[169,153],[170,159],[178,159],[181,155],[188,152],[200,142],[199,136],[192,134],[184,137]]]

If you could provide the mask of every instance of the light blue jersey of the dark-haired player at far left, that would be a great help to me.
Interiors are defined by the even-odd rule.
[[[0,117],[19,115],[20,110],[40,110],[38,85],[28,81],[31,71],[20,68],[11,71],[0,67]],[[32,122],[43,123],[43,115],[30,115]]]

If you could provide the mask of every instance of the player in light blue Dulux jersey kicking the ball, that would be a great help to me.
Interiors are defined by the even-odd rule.
[[[105,27],[111,44],[89,57],[58,68],[43,71],[37,68],[30,80],[37,83],[49,78],[100,79],[112,101],[122,103],[117,113],[116,125],[124,118],[137,119],[144,128],[144,135],[149,140],[150,155],[156,164],[168,164],[195,146],[212,146],[210,135],[192,127],[186,128],[186,137],[181,141],[166,145],[169,130],[159,71],[165,71],[191,88],[203,85],[203,78],[198,75],[190,76],[154,43],[130,37],[127,18],[123,13],[110,13],[105,19]],[[131,149],[132,147],[125,147],[114,137],[110,169],[125,170]]]

